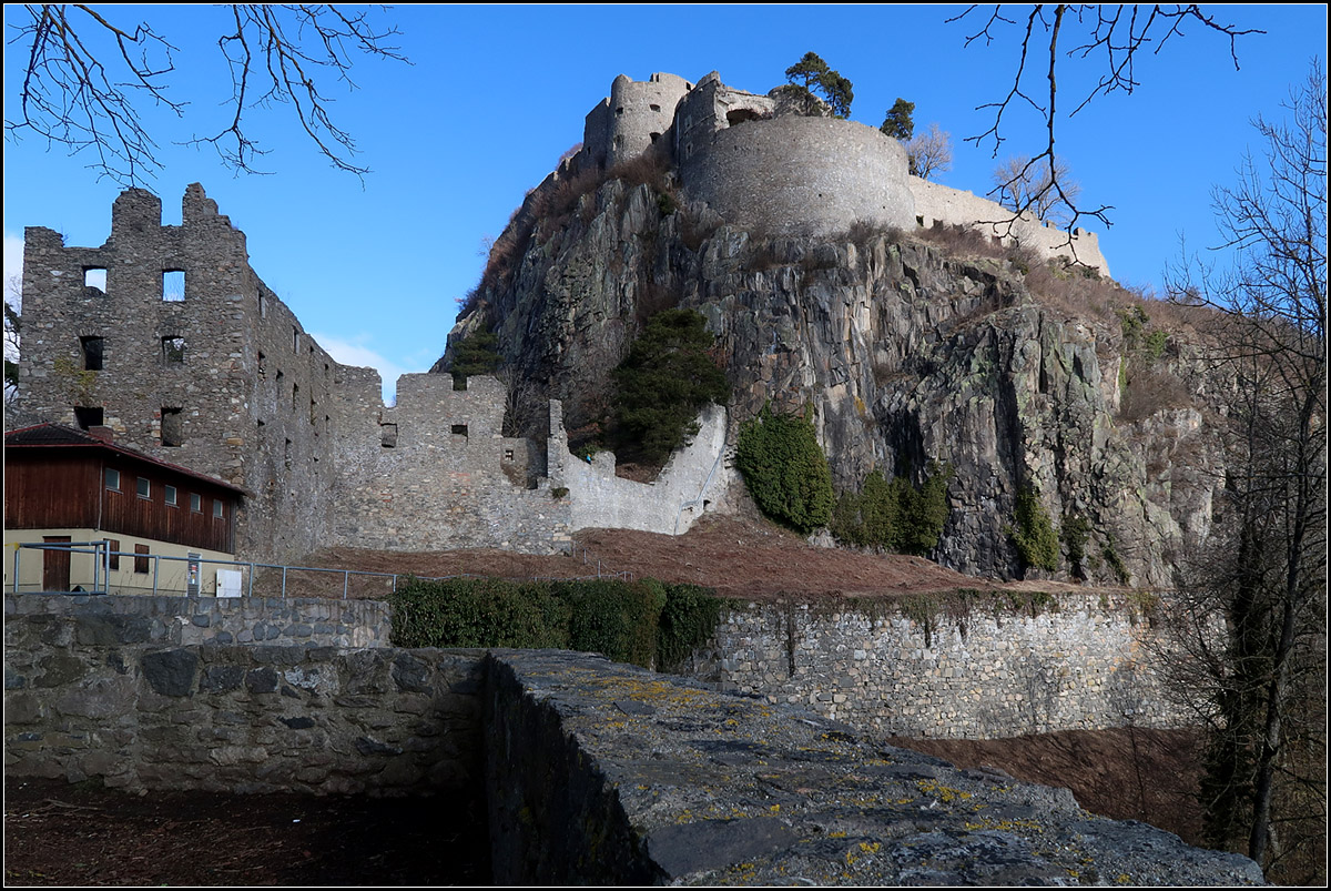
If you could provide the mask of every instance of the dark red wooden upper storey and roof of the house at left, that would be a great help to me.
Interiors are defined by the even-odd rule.
[[[96,529],[236,550],[242,489],[83,430],[43,424],[7,433],[4,469],[5,529]]]

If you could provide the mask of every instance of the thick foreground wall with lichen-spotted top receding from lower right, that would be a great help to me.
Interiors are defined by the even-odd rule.
[[[1067,790],[679,678],[530,650],[488,675],[499,884],[1262,883]]]

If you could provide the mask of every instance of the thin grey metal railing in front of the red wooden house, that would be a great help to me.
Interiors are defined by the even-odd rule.
[[[63,551],[63,553],[68,553],[68,554],[91,554],[93,557],[93,559],[92,559],[92,566],[93,566],[92,579],[89,579],[89,583],[92,585],[92,587],[91,589],[83,589],[83,583],[80,582],[76,587],[79,587],[81,590],[75,590],[75,591],[45,591],[45,583],[44,582],[41,582],[41,583],[29,583],[27,586],[23,585],[23,582],[20,581],[23,577],[20,575],[19,570],[20,570],[20,566],[21,566],[21,563],[20,563],[20,555],[25,550]],[[596,558],[590,551],[587,551],[587,549],[578,547],[575,545],[574,549],[572,549],[571,555],[574,558],[576,558],[579,555],[579,553],[582,555],[582,562],[583,562],[584,566],[591,566],[592,565],[592,559],[595,559],[595,567],[596,567],[595,574],[574,575],[574,577],[532,575],[532,577],[524,577],[524,578],[516,579],[516,581],[534,581],[534,582],[539,582],[539,581],[583,581],[583,579],[590,579],[590,578],[615,578],[615,579],[622,579],[622,581],[632,582],[632,581],[636,579],[636,577],[635,577],[634,573],[630,573],[630,571],[611,571],[608,569],[604,569],[602,566],[602,561],[599,558]],[[126,575],[126,573],[124,570],[112,570],[112,567],[110,567],[110,562],[112,562],[110,558],[112,557],[132,558],[132,559],[136,559],[136,561],[144,561],[144,559],[152,561],[152,571],[150,571],[152,585],[149,586],[146,583],[145,585],[125,585],[125,583],[118,583],[118,585],[112,586],[112,583],[110,583],[110,574],[112,574],[112,571],[116,571],[121,577]],[[161,569],[161,562],[162,561],[168,561],[168,565],[170,565],[170,563],[185,563],[184,573],[182,574],[169,574],[169,578],[164,583],[162,582],[164,573],[162,573],[162,569]],[[197,595],[201,595],[202,587],[204,587],[202,583],[201,583],[201,570],[202,570],[204,565],[212,565],[212,566],[217,566],[217,567],[240,567],[240,571],[242,574],[241,587],[244,589],[244,597],[254,597],[256,578],[260,577],[260,582],[258,582],[260,597],[266,597],[268,595],[268,594],[265,594],[266,589],[277,587],[278,589],[278,597],[281,597],[282,599],[285,599],[287,597],[289,579],[291,578],[291,574],[294,574],[294,573],[315,573],[315,574],[333,575],[333,577],[341,575],[342,577],[341,578],[341,581],[342,581],[342,597],[341,597],[341,599],[349,599],[353,579],[355,579],[355,581],[362,581],[362,579],[382,579],[381,581],[382,587],[381,587],[381,590],[378,593],[378,595],[382,597],[385,594],[397,593],[397,590],[398,590],[398,579],[414,578],[414,579],[421,579],[421,581],[426,581],[426,582],[438,582],[438,581],[446,581],[446,579],[451,579],[451,578],[486,578],[484,575],[479,575],[479,574],[475,574],[475,573],[457,573],[457,574],[453,574],[453,575],[418,575],[415,573],[375,573],[375,571],[358,570],[358,569],[329,569],[329,567],[323,567],[323,566],[293,566],[293,565],[289,565],[289,563],[261,563],[261,562],[257,562],[257,561],[226,561],[226,559],[213,559],[213,558],[206,558],[206,557],[200,557],[200,555],[170,557],[170,555],[166,555],[166,554],[138,554],[138,553],[132,553],[132,551],[112,550],[109,539],[101,539],[101,541],[95,541],[95,542],[19,542],[15,546],[15,551],[13,551],[13,581],[12,581],[11,590],[15,594],[24,593],[24,590],[28,590],[28,591],[32,591],[32,593],[109,594],[109,593],[112,593],[112,587],[114,587],[116,590],[150,590],[150,593],[154,594],[154,595],[160,594],[160,593],[168,593],[169,591],[173,595],[197,597]],[[272,570],[272,571],[268,571],[268,570]],[[192,571],[194,574],[193,575],[194,581],[190,581],[190,573]],[[148,575],[148,574],[149,573],[137,573],[136,571],[136,573],[130,573],[129,575]],[[262,578],[264,575],[268,575],[269,578]],[[280,578],[281,581],[277,582],[277,578]],[[73,585],[73,582],[75,582],[75,579],[71,578],[69,583]],[[146,582],[146,579],[145,579],[145,582]],[[181,583],[181,582],[184,582],[184,583]],[[190,589],[193,589],[193,590],[190,590]],[[214,591],[214,594],[212,594],[212,595],[218,595],[218,594]],[[359,594],[359,595],[363,597],[365,594]],[[221,597],[226,597],[226,595],[221,595]]]

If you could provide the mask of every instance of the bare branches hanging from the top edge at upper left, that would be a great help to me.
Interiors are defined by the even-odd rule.
[[[331,5],[225,7],[218,49],[232,75],[228,120],[186,144],[212,145],[236,170],[258,173],[266,149],[245,129],[245,113],[258,105],[287,104],[301,129],[334,166],[365,174],[351,162],[355,143],[330,115],[331,97],[319,79],[349,88],[357,56],[406,61],[389,41],[393,27],[374,24],[374,11],[345,12]],[[136,185],[161,169],[158,144],[138,107],[157,105],[184,117],[188,103],[170,92],[180,49],[146,23],[108,19],[114,7],[40,4],[12,27],[11,45],[25,55],[17,113],[5,117],[5,137],[36,135],[71,153],[88,150],[98,176]]]

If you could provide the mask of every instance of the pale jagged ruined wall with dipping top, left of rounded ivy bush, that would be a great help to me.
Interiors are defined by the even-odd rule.
[[[558,401],[551,416],[551,485],[568,489],[571,531],[638,529],[681,535],[724,498],[735,479],[735,471],[725,466],[728,418],[723,408],[712,405],[703,412],[697,434],[671,455],[654,482],[616,477],[612,451],[600,451],[591,462],[570,454]]]

